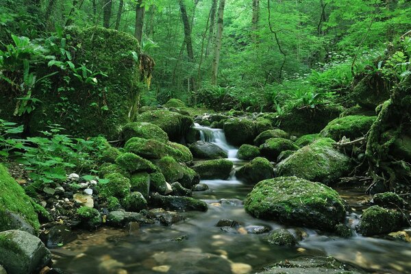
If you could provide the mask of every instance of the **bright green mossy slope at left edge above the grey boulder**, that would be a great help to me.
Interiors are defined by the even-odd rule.
[[[9,175],[2,164],[0,164],[0,190],[0,231],[10,229],[8,227],[10,220],[7,220],[4,214],[6,210],[20,214],[38,231],[40,223],[32,199],[25,194],[23,188]]]

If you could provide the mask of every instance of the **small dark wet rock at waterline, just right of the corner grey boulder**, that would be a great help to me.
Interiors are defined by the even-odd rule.
[[[42,242],[51,249],[66,245],[76,238],[77,235],[71,232],[70,227],[66,225],[55,225],[40,234]]]

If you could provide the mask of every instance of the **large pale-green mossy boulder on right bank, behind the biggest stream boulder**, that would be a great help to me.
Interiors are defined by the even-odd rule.
[[[334,140],[321,138],[277,164],[280,176],[297,176],[312,182],[333,184],[351,171],[351,159],[334,149]]]

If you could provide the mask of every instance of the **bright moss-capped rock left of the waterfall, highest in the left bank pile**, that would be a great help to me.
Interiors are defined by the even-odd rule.
[[[158,125],[152,123],[128,123],[121,131],[123,140],[127,142],[133,137],[154,139],[160,142],[168,142],[169,136]]]

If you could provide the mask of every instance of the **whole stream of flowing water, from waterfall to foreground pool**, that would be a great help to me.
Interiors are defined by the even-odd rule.
[[[221,129],[195,126],[201,140],[213,142],[229,153],[238,169],[244,162],[236,158],[237,149],[227,144]],[[202,180],[210,190],[194,197],[208,203],[208,212],[184,212],[188,219],[171,227],[151,225],[136,230],[103,228],[84,232],[79,238],[53,250],[55,267],[69,273],[254,273],[267,264],[298,256],[334,256],[375,273],[411,273],[411,248],[406,242],[353,236],[345,239],[304,227],[285,227],[303,240],[297,247],[277,247],[264,241],[264,234],[247,234],[250,226],[271,229],[284,227],[271,221],[254,219],[242,201],[252,186],[228,180]],[[363,191],[338,189],[349,202],[347,217],[352,227],[363,209],[360,201],[369,198]],[[216,227],[221,219],[241,223],[239,229]]]

